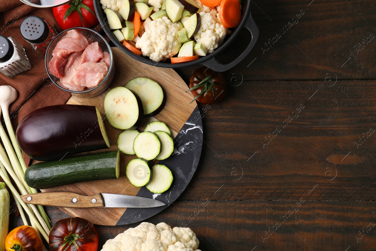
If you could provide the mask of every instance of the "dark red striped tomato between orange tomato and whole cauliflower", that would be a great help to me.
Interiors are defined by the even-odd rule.
[[[50,251],[97,251],[98,233],[85,219],[62,219],[52,226],[49,236]]]

